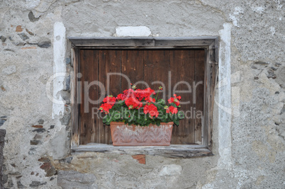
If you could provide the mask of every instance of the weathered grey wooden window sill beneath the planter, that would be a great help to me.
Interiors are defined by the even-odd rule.
[[[89,143],[72,147],[72,154],[86,151],[117,153],[117,154],[148,154],[152,156],[166,156],[170,158],[191,158],[194,156],[213,156],[208,147],[200,145],[172,144],[168,147],[114,147],[108,144]]]

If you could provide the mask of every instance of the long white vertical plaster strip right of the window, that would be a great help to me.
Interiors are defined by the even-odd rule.
[[[219,50],[219,71],[218,78],[225,80],[225,85],[218,88],[218,142],[220,159],[218,165],[220,167],[229,168],[231,162],[231,115],[223,108],[231,108],[231,76],[230,76],[230,40],[231,25],[223,24],[223,30],[219,30],[220,34],[220,50]]]

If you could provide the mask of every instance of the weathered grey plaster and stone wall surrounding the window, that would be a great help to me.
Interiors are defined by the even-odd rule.
[[[279,0],[1,1],[5,188],[284,188],[284,16]],[[144,28],[134,35],[220,37],[228,84],[216,90],[214,156],[70,155],[69,77],[47,87],[72,70],[67,37],[130,35],[130,26]]]

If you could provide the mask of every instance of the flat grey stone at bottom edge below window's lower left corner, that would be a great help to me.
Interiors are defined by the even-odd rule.
[[[57,185],[60,185],[63,189],[98,188],[96,185],[96,176],[90,173],[79,173],[77,171],[58,171]]]

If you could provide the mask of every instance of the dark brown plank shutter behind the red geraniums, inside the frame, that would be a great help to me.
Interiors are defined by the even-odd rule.
[[[79,132],[80,144],[90,142],[111,144],[110,128],[104,125],[101,119],[92,118],[92,108],[100,105],[89,103],[88,108],[84,105],[84,81],[100,81],[110,88],[110,95],[116,96],[128,88],[128,81],[112,75],[110,84],[107,84],[108,73],[122,73],[128,76],[135,84],[137,81],[145,81],[157,90],[161,84],[152,84],[153,81],[161,81],[166,89],[166,100],[169,94],[173,95],[174,85],[180,83],[176,91],[189,91],[191,93],[177,93],[182,101],[190,101],[189,104],[181,105],[180,110],[191,118],[181,120],[179,126],[174,126],[171,144],[200,144],[201,142],[201,118],[196,118],[197,110],[203,111],[203,79],[204,79],[204,50],[80,50],[79,79],[81,88],[81,104],[79,108]],[[171,73],[171,74],[169,74]],[[171,76],[171,78],[169,78]],[[87,81],[87,82],[86,82]],[[170,81],[170,82],[169,82]],[[194,90],[194,85],[202,81]],[[139,88],[145,88],[143,84]],[[194,103],[193,93],[196,91]],[[98,100],[101,93],[99,86],[89,88],[89,98]],[[160,94],[162,97],[162,94]],[[84,113],[84,110],[89,110]]]

